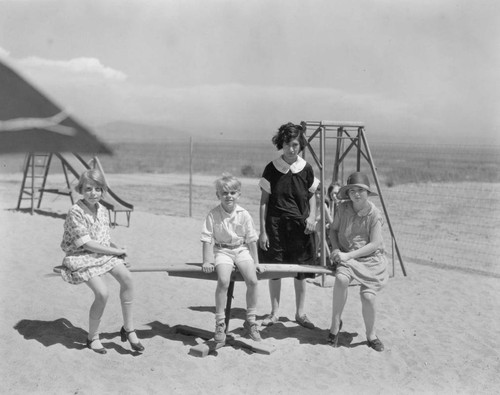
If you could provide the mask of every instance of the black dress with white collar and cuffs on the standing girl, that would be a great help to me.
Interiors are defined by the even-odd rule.
[[[314,234],[304,233],[309,199],[318,186],[312,166],[301,157],[291,166],[278,158],[266,166],[259,186],[270,194],[266,213],[269,248],[259,248],[261,262],[314,264]],[[314,275],[297,276],[305,277]]]

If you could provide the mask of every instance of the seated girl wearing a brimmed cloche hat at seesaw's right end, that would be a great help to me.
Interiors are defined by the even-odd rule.
[[[353,173],[340,188],[338,198],[344,199],[335,212],[330,228],[331,259],[337,263],[333,288],[332,324],[328,343],[338,347],[342,328],[342,311],[352,280],[360,284],[362,314],[368,347],[383,351],[384,345],[375,331],[375,298],[387,284],[387,258],[382,240],[382,212],[368,199],[378,196],[370,188],[368,177]]]

